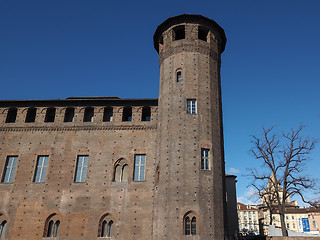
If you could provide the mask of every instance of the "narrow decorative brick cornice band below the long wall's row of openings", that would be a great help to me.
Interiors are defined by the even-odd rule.
[[[110,130],[156,130],[157,125],[151,126],[65,126],[65,127],[0,127],[0,132],[64,132],[64,131],[110,131]]]

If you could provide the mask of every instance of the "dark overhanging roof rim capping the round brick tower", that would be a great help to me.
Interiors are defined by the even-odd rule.
[[[206,18],[202,15],[194,15],[194,14],[182,14],[175,17],[168,18],[163,23],[161,23],[158,28],[156,29],[154,35],[153,35],[153,43],[154,48],[159,53],[161,49],[159,49],[159,44],[161,44],[162,40],[162,34],[164,31],[169,29],[172,26],[175,25],[183,25],[186,23],[194,23],[199,24],[202,26],[207,27],[209,30],[215,30],[218,33],[219,37],[219,50],[220,53],[222,53],[225,49],[225,45],[227,42],[226,35],[224,33],[224,30],[222,27],[220,27],[219,24],[217,24],[215,21]]]

